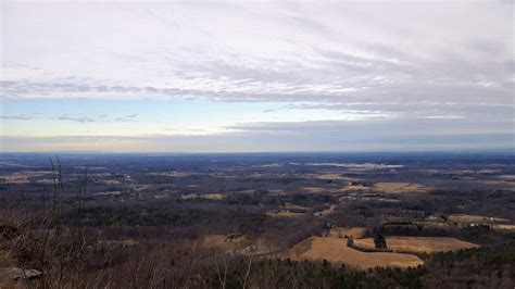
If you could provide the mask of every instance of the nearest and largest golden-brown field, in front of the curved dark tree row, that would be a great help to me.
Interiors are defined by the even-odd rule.
[[[365,253],[347,247],[347,239],[311,237],[296,244],[289,256],[292,260],[327,260],[341,262],[359,268],[376,266],[414,267],[424,264],[415,255],[401,253]]]

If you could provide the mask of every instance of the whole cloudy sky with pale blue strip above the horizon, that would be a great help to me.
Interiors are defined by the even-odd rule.
[[[0,152],[515,148],[513,1],[0,3]]]

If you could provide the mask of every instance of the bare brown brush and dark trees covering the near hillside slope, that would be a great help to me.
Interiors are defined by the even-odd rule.
[[[423,254],[425,264],[416,267],[359,269],[325,260],[222,254],[180,239],[130,242],[123,230],[117,237],[125,241],[100,241],[103,229],[63,225],[59,214],[21,217],[28,215],[3,210],[0,263],[43,273],[26,280],[34,288],[511,288],[515,276],[515,239]]]

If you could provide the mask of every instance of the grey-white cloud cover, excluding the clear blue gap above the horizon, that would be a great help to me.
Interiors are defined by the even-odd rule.
[[[434,131],[501,134],[495,143],[513,146],[513,9],[512,1],[8,1],[0,93],[5,103],[27,106],[34,99],[201,100],[272,104],[263,118],[293,111],[341,115],[297,122],[249,116],[210,130],[249,137],[355,136],[356,129],[372,136],[405,127],[406,136],[430,130],[432,140]],[[46,118],[85,126],[136,121],[116,115],[64,111]],[[1,122],[37,118],[4,109]]]

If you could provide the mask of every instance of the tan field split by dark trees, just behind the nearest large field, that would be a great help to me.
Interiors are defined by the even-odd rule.
[[[354,244],[363,248],[375,248],[372,238],[355,239]],[[475,243],[464,242],[449,237],[387,237],[388,249],[410,252],[445,252],[460,249],[477,248]]]

